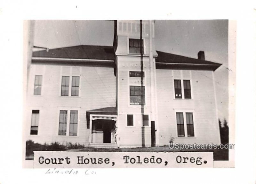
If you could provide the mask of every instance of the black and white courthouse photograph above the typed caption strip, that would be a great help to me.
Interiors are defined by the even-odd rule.
[[[229,160],[228,20],[26,23],[27,163],[34,151]]]

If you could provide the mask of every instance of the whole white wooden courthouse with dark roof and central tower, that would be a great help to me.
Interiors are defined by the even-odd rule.
[[[92,147],[220,144],[214,71],[204,52],[156,51],[153,21],[115,21],[113,46],[33,52],[25,139]]]

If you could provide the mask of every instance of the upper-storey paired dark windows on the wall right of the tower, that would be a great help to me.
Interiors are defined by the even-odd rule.
[[[191,99],[190,80],[183,80],[183,87],[181,86],[181,80],[174,80],[175,98],[182,98],[182,88],[184,90],[184,99]]]

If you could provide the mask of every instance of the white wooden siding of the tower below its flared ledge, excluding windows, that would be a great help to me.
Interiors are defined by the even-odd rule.
[[[150,122],[150,74],[149,60],[143,58],[143,71],[145,73],[143,86],[145,86],[145,105],[130,105],[129,86],[140,86],[136,82],[140,77],[130,77],[129,71],[141,71],[140,56],[118,56],[118,135],[120,147],[140,147],[151,145],[151,127],[142,126],[142,114],[149,115]],[[143,109],[142,109],[143,107]],[[133,115],[133,126],[127,126],[127,114]]]

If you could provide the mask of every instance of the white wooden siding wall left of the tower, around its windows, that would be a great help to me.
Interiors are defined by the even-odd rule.
[[[33,95],[35,75],[43,75],[42,95]],[[70,76],[69,80],[72,80],[74,75],[80,76],[79,96],[60,96],[62,75]],[[71,82],[69,84],[71,85]],[[86,111],[116,106],[114,70],[106,67],[32,64],[26,105],[26,140],[31,139],[42,144],[57,141],[62,144],[72,142],[88,145],[89,129],[86,127]],[[40,110],[38,135],[30,135],[32,110]],[[78,110],[77,136],[58,135],[60,110]]]

